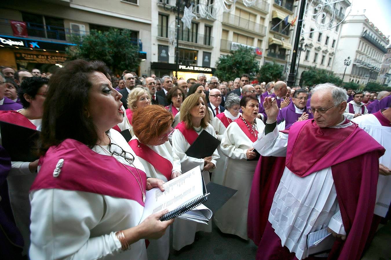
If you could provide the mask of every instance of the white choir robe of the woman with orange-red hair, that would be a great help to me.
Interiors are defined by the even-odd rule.
[[[138,140],[137,136],[133,136],[131,140]],[[179,159],[175,159],[172,157],[172,146],[170,142],[167,141],[162,145],[147,145],[154,152],[159,154],[161,157],[169,160],[172,164],[173,172],[181,172],[181,161]],[[159,172],[152,164],[145,161],[143,158],[137,156],[140,162],[143,164],[145,168],[145,173],[147,173],[147,177],[157,178],[164,180],[167,182],[167,178]],[[174,223],[175,225],[175,223]],[[165,234],[160,239],[150,239],[149,246],[147,248],[148,260],[163,260],[168,259],[170,253],[170,227],[167,228]]]

